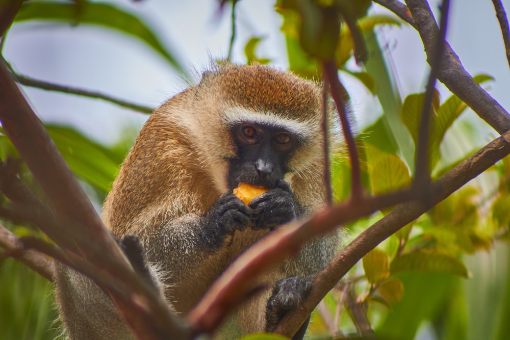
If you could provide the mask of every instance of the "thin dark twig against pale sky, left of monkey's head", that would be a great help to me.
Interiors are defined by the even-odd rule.
[[[9,66],[10,68],[10,66]],[[120,107],[131,109],[133,111],[141,112],[141,113],[151,113],[154,111],[153,108],[149,108],[147,106],[135,104],[129,101],[126,101],[124,99],[116,98],[108,94],[104,94],[98,91],[89,91],[84,90],[76,87],[70,87],[70,86],[64,86],[59,85],[55,83],[50,82],[43,82],[25,75],[18,74],[14,72],[12,68],[10,68],[10,71],[12,75],[14,76],[14,80],[16,83],[19,83],[24,86],[30,86],[35,87],[42,90],[47,91],[56,91],[56,92],[62,92],[62,93],[68,93],[68,94],[75,94],[79,96],[89,97],[89,98],[95,98],[95,99],[102,99],[111,103],[114,103]]]

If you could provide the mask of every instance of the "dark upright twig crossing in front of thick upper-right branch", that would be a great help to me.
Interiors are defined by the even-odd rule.
[[[416,172],[413,186],[419,193],[425,193],[425,188],[430,183],[430,169],[428,159],[428,141],[430,139],[430,114],[432,109],[432,100],[436,89],[436,78],[441,68],[443,59],[446,27],[448,23],[449,0],[443,0],[441,5],[441,21],[439,34],[436,37],[436,44],[430,59],[430,74],[428,75],[427,88],[421,111],[421,121],[418,134],[418,145],[416,150]]]

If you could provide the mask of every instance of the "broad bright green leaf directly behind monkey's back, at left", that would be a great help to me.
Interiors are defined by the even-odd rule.
[[[75,174],[103,193],[110,190],[122,162],[117,154],[70,127],[46,125],[46,130]]]

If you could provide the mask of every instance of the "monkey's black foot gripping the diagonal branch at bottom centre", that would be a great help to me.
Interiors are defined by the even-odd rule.
[[[267,301],[266,331],[273,331],[285,313],[300,306],[312,290],[312,280],[312,277],[290,276],[276,281],[271,297]],[[305,322],[293,339],[302,338],[307,327],[308,322]]]

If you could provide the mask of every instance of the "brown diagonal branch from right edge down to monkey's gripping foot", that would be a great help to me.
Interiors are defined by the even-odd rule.
[[[508,154],[510,154],[510,132],[495,139],[437,181],[432,182],[429,188],[431,192],[430,204],[441,202]],[[285,335],[294,334],[320,300],[335,287],[349,269],[379,243],[426,213],[431,207],[430,204],[420,201],[402,203],[390,214],[362,232],[317,275],[310,296],[304,301],[301,308],[292,310],[284,317],[275,332]],[[328,212],[322,214],[328,214]]]

